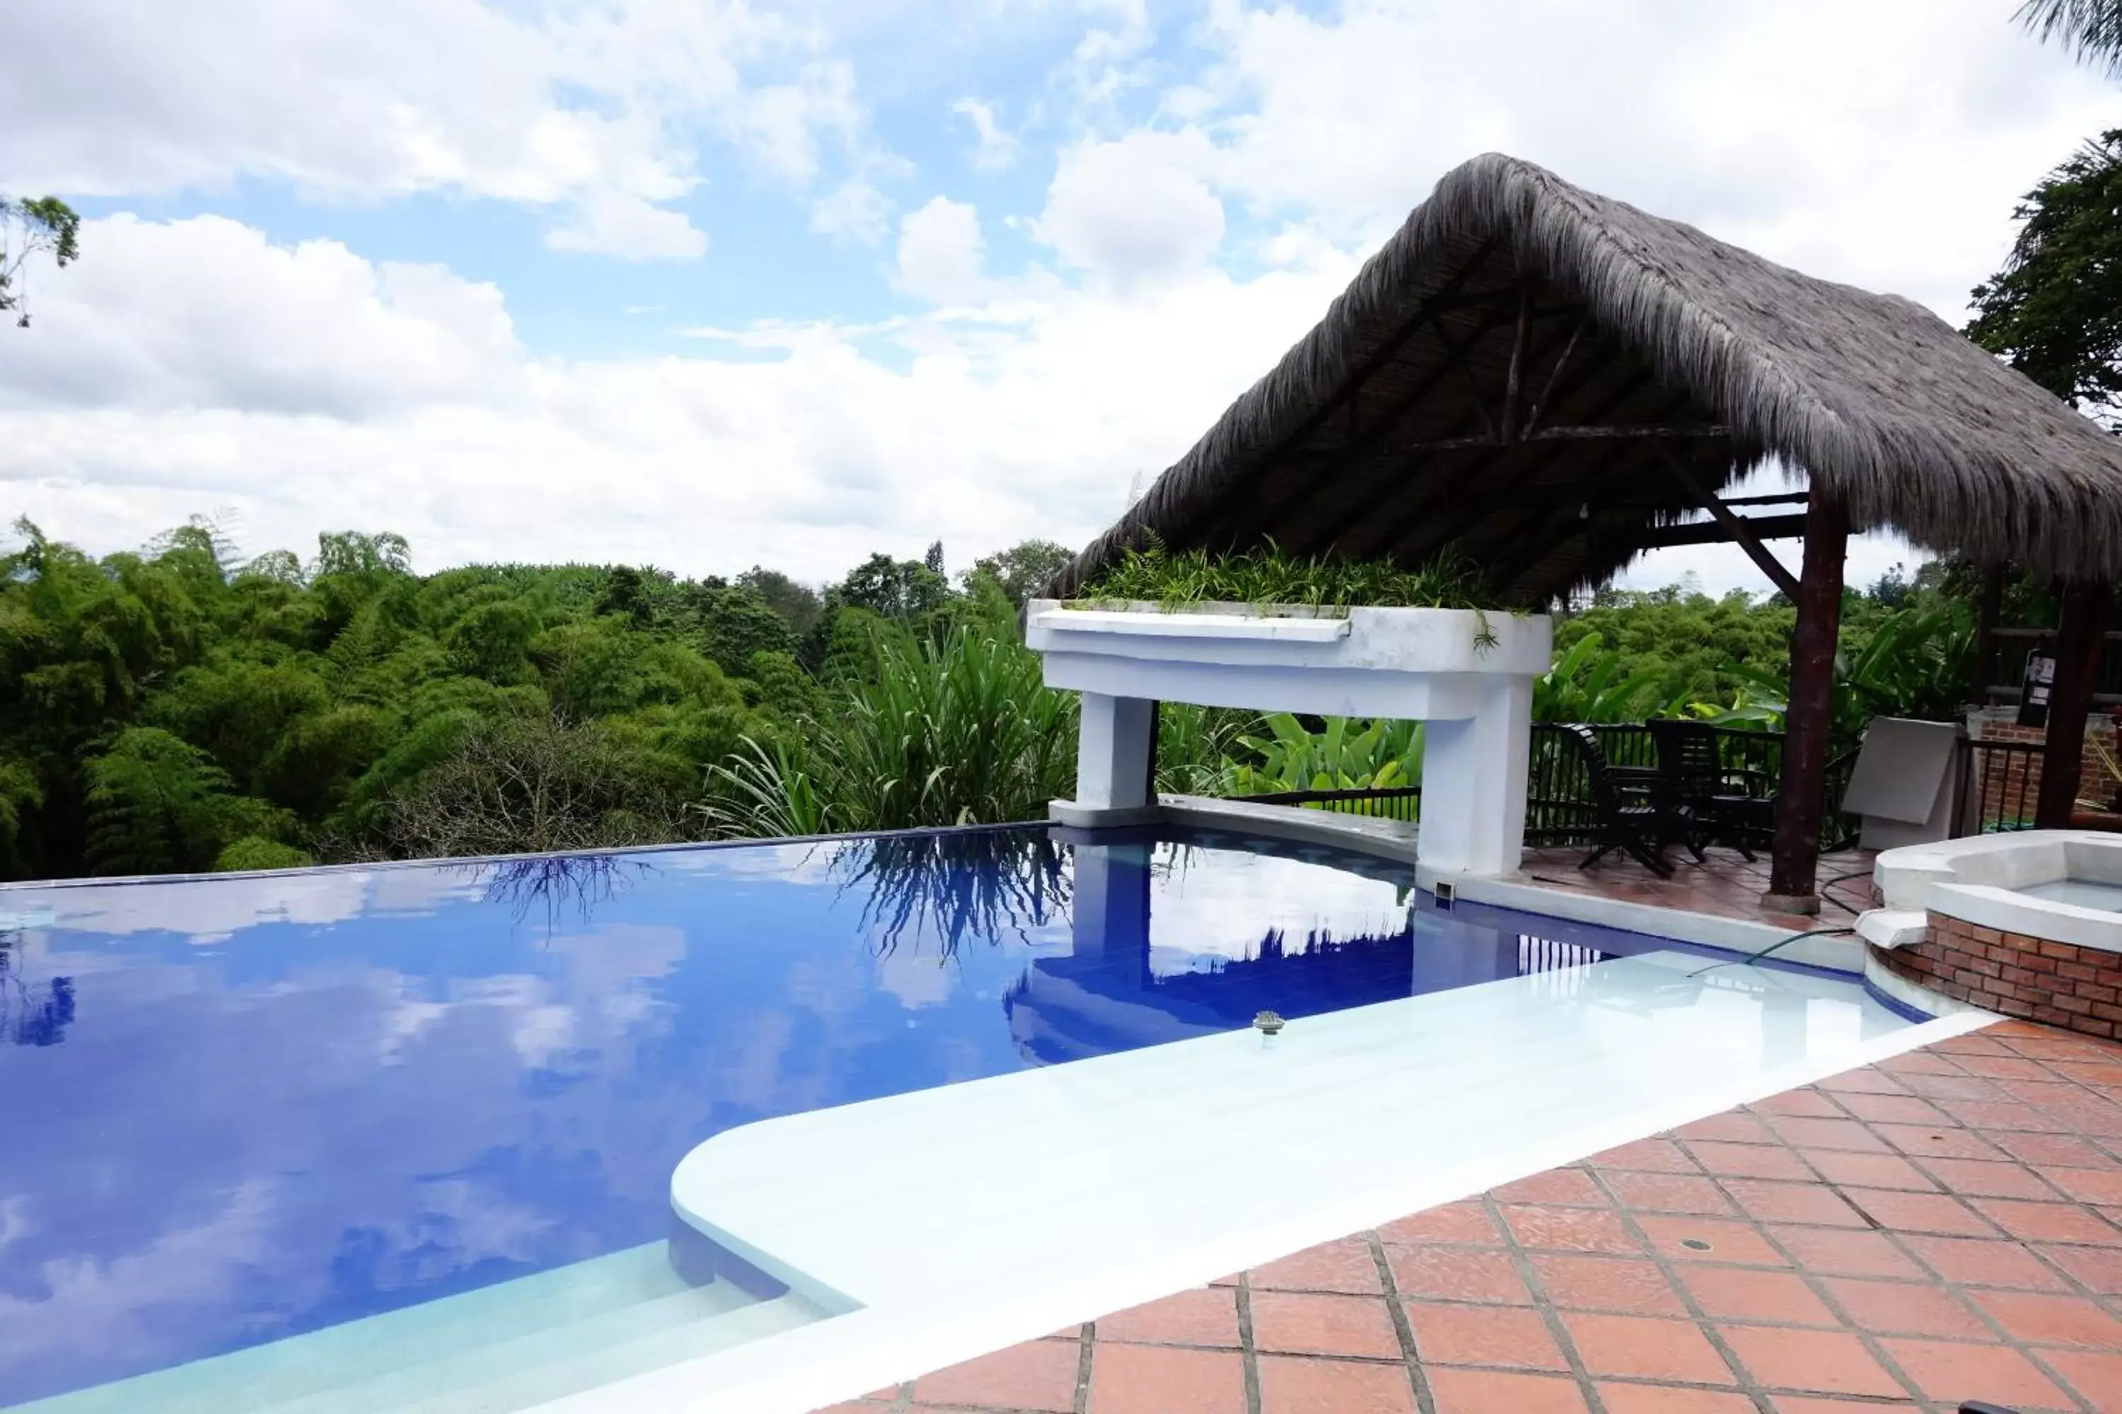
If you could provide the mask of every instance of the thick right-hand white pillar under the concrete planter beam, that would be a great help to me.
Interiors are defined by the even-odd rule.
[[[1430,721],[1415,850],[1432,869],[1509,873],[1526,850],[1532,678],[1490,676],[1471,719]]]

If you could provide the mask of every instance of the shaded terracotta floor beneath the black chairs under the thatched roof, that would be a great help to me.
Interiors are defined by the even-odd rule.
[[[1768,854],[1757,861],[1744,859],[1738,850],[1708,850],[1708,861],[1695,863],[1687,850],[1666,852],[1672,861],[1672,878],[1662,880],[1634,859],[1608,854],[1589,869],[1579,869],[1587,850],[1553,848],[1526,850],[1517,873],[1524,882],[1566,892],[1623,899],[1628,903],[1653,903],[1657,907],[1679,907],[1691,914],[1719,914],[1723,918],[1746,918],[1778,929],[1814,929],[1829,922],[1850,922],[1855,909],[1872,905],[1872,850],[1840,850],[1821,856],[1819,882],[1827,884],[1836,876],[1846,878],[1827,884],[1829,897],[1821,905],[1819,918],[1802,914],[1770,914],[1761,909],[1761,895],[1768,892]],[[1836,907],[1836,901],[1848,907]]]

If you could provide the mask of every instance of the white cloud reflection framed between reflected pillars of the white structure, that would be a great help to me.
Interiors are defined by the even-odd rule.
[[[1214,850],[1214,867],[1197,869],[1195,856],[1188,846],[1156,846],[1152,956],[1248,958],[1269,931],[1294,948],[1309,933],[1390,937],[1407,926],[1407,903],[1386,880],[1237,850]]]

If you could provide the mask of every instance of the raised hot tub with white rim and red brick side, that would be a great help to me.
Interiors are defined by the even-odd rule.
[[[2122,1035],[2122,835],[2024,831],[1886,850],[1857,920],[1865,975],[1942,1013],[1980,1007]]]

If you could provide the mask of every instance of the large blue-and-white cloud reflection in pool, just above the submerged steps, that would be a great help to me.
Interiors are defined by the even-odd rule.
[[[125,1151],[153,1162],[115,1162],[81,1185],[70,1174],[83,1155],[112,1151],[108,1115],[53,1107],[36,1117],[34,1153],[0,1170],[0,1232],[11,1234],[0,1367],[89,1359],[129,1372],[189,1357],[195,1331],[286,1333],[344,1319],[363,1293],[547,1263],[554,1244],[562,1259],[609,1247],[594,1230],[558,1230],[569,1204],[556,1194],[609,1189],[605,1155],[656,1153],[700,1132],[705,1115],[698,1096],[671,1094],[651,1130],[647,1107],[613,1104],[609,1085],[526,1104],[526,1079],[554,1062],[584,1079],[637,1073],[626,1013],[641,1007],[613,1015],[609,1003],[666,973],[681,935],[620,929],[609,952],[598,941],[571,939],[558,975],[450,979],[314,962],[242,990],[210,986],[199,969],[219,962],[136,962],[112,975],[202,984],[144,988],[144,1013],[115,1007],[112,1024],[53,1047],[110,1077]],[[649,977],[624,977],[626,967]],[[51,1090],[36,1068],[11,1079],[23,1094]],[[666,1181],[664,1170],[628,1183],[641,1189],[628,1194],[632,1208],[662,1202]],[[259,1274],[269,1274],[265,1308]],[[47,1291],[25,1289],[25,1276]]]

